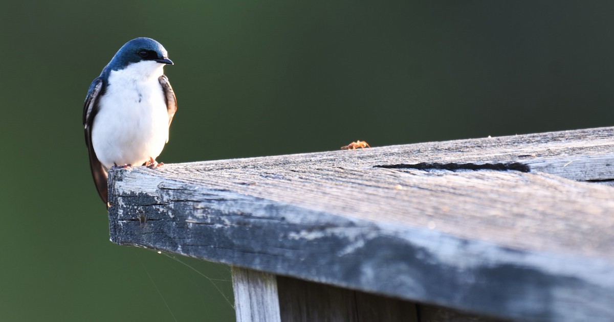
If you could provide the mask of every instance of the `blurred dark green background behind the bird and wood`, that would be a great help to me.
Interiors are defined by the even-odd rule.
[[[614,124],[614,2],[2,1],[1,321],[232,321],[228,267],[109,242],[82,104],[126,41],[179,101],[158,161]]]

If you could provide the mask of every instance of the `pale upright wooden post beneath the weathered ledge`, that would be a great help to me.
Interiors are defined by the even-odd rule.
[[[237,322],[280,322],[277,280],[274,275],[232,268]]]

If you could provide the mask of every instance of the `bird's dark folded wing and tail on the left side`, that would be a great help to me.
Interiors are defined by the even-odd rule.
[[[94,178],[94,183],[96,184],[98,194],[103,199],[104,204],[106,204],[108,207],[109,195],[107,191],[107,170],[104,169],[104,166],[98,160],[94,147],[91,145],[91,126],[94,123],[96,113],[98,113],[98,98],[103,93],[103,87],[104,83],[100,77],[91,82],[83,107],[83,126],[85,129],[85,145],[87,145],[87,150],[90,154],[91,176]]]

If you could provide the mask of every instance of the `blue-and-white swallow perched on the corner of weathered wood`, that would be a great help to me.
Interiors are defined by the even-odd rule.
[[[173,65],[166,49],[156,40],[138,37],[115,53],[87,91],[85,145],[96,190],[107,209],[109,169],[160,165],[155,159],[168,143],[177,111],[166,65]]]

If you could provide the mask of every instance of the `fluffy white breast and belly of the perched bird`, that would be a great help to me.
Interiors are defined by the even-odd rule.
[[[163,67],[141,61],[109,75],[91,128],[91,143],[103,166],[141,166],[160,155],[168,141],[168,112],[158,81]]]

